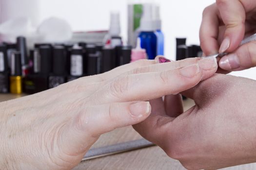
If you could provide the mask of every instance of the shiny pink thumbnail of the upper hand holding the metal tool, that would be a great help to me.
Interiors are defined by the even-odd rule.
[[[240,61],[236,54],[229,54],[220,59],[219,67],[225,70],[232,70],[240,67]]]

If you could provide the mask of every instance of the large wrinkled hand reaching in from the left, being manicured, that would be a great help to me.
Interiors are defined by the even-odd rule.
[[[1,102],[0,169],[71,169],[101,134],[146,119],[144,101],[187,90],[216,70],[215,58],[141,60]]]

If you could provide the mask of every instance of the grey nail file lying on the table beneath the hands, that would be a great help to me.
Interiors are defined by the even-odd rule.
[[[149,142],[146,139],[139,139],[133,140],[129,142],[119,143],[115,145],[109,145],[101,148],[93,148],[90,149],[85,156],[83,157],[82,161],[95,159],[98,157],[108,156],[117,153],[124,153],[129,151],[134,151],[142,148],[147,148],[155,146],[155,144]]]

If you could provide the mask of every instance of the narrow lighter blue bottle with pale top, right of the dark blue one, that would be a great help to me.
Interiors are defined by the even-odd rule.
[[[156,32],[157,35],[157,55],[164,55],[164,35],[161,31],[162,28],[162,21],[160,18],[160,9],[159,6],[155,6],[155,24],[156,24]]]

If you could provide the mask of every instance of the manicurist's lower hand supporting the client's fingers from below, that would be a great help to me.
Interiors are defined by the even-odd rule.
[[[151,101],[152,113],[134,128],[189,170],[216,170],[256,162],[256,81],[216,74],[183,92],[196,105],[183,113]],[[172,109],[169,109],[172,108]]]

